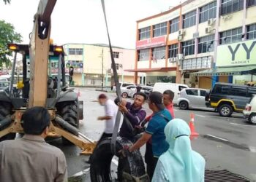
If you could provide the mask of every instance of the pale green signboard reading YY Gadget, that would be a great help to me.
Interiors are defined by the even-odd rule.
[[[217,67],[256,65],[256,40],[219,45]]]

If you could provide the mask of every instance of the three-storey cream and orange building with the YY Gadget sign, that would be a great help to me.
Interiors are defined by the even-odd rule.
[[[146,73],[146,82],[202,88],[211,88],[215,82],[255,81],[256,59],[248,61],[246,54],[256,52],[255,11],[256,0],[188,0],[138,20],[135,69],[130,71],[136,78],[138,73]],[[247,40],[252,41],[244,43]],[[240,45],[246,56],[236,61],[244,64],[221,59],[230,52],[228,58],[234,61],[232,55]],[[228,52],[222,51],[225,48]]]

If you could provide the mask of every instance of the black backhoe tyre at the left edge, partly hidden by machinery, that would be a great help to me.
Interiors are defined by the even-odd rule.
[[[0,102],[0,121],[4,119],[7,115],[11,114],[11,112],[12,112],[12,104],[1,101]],[[16,133],[14,132],[4,135],[3,137],[0,138],[0,142],[6,141],[6,140],[13,140],[15,138],[15,135]]]

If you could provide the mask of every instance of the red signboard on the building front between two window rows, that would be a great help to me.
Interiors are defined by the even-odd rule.
[[[152,39],[145,39],[145,40],[137,41],[136,49],[141,50],[141,49],[146,49],[149,47],[159,47],[159,46],[164,46],[165,44],[166,44],[165,36],[157,36]]]

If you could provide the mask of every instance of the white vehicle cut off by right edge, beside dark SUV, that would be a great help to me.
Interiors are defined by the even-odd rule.
[[[252,95],[251,100],[244,108],[243,114],[250,123],[256,124],[256,95]]]

